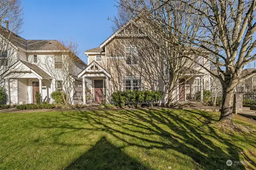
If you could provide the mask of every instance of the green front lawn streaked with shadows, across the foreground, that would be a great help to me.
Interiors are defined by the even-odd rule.
[[[227,133],[219,113],[143,109],[0,114],[0,169],[244,170],[255,133]],[[256,123],[234,115],[236,124]],[[252,161],[227,166],[226,161]]]

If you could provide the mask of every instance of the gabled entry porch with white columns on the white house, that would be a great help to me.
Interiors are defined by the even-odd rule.
[[[6,104],[36,103],[36,92],[41,102],[48,101],[52,77],[38,66],[18,60],[3,73],[6,89]],[[48,101],[49,102],[49,101]]]

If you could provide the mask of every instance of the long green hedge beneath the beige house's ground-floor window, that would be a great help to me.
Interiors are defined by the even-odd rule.
[[[111,99],[116,106],[122,107],[125,105],[140,106],[145,102],[149,106],[153,106],[162,99],[163,92],[161,91],[117,91],[112,93]]]

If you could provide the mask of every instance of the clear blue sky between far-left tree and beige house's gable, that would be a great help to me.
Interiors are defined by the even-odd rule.
[[[100,46],[111,34],[116,14],[114,0],[24,0],[24,25],[20,36],[27,40],[68,40],[83,52]]]

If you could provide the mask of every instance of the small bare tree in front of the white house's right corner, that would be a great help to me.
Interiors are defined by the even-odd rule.
[[[77,65],[81,62],[78,45],[73,40],[56,41],[56,50],[48,55],[43,63],[46,71],[54,78],[55,89],[63,92],[66,104],[72,103],[74,76],[78,74]]]

